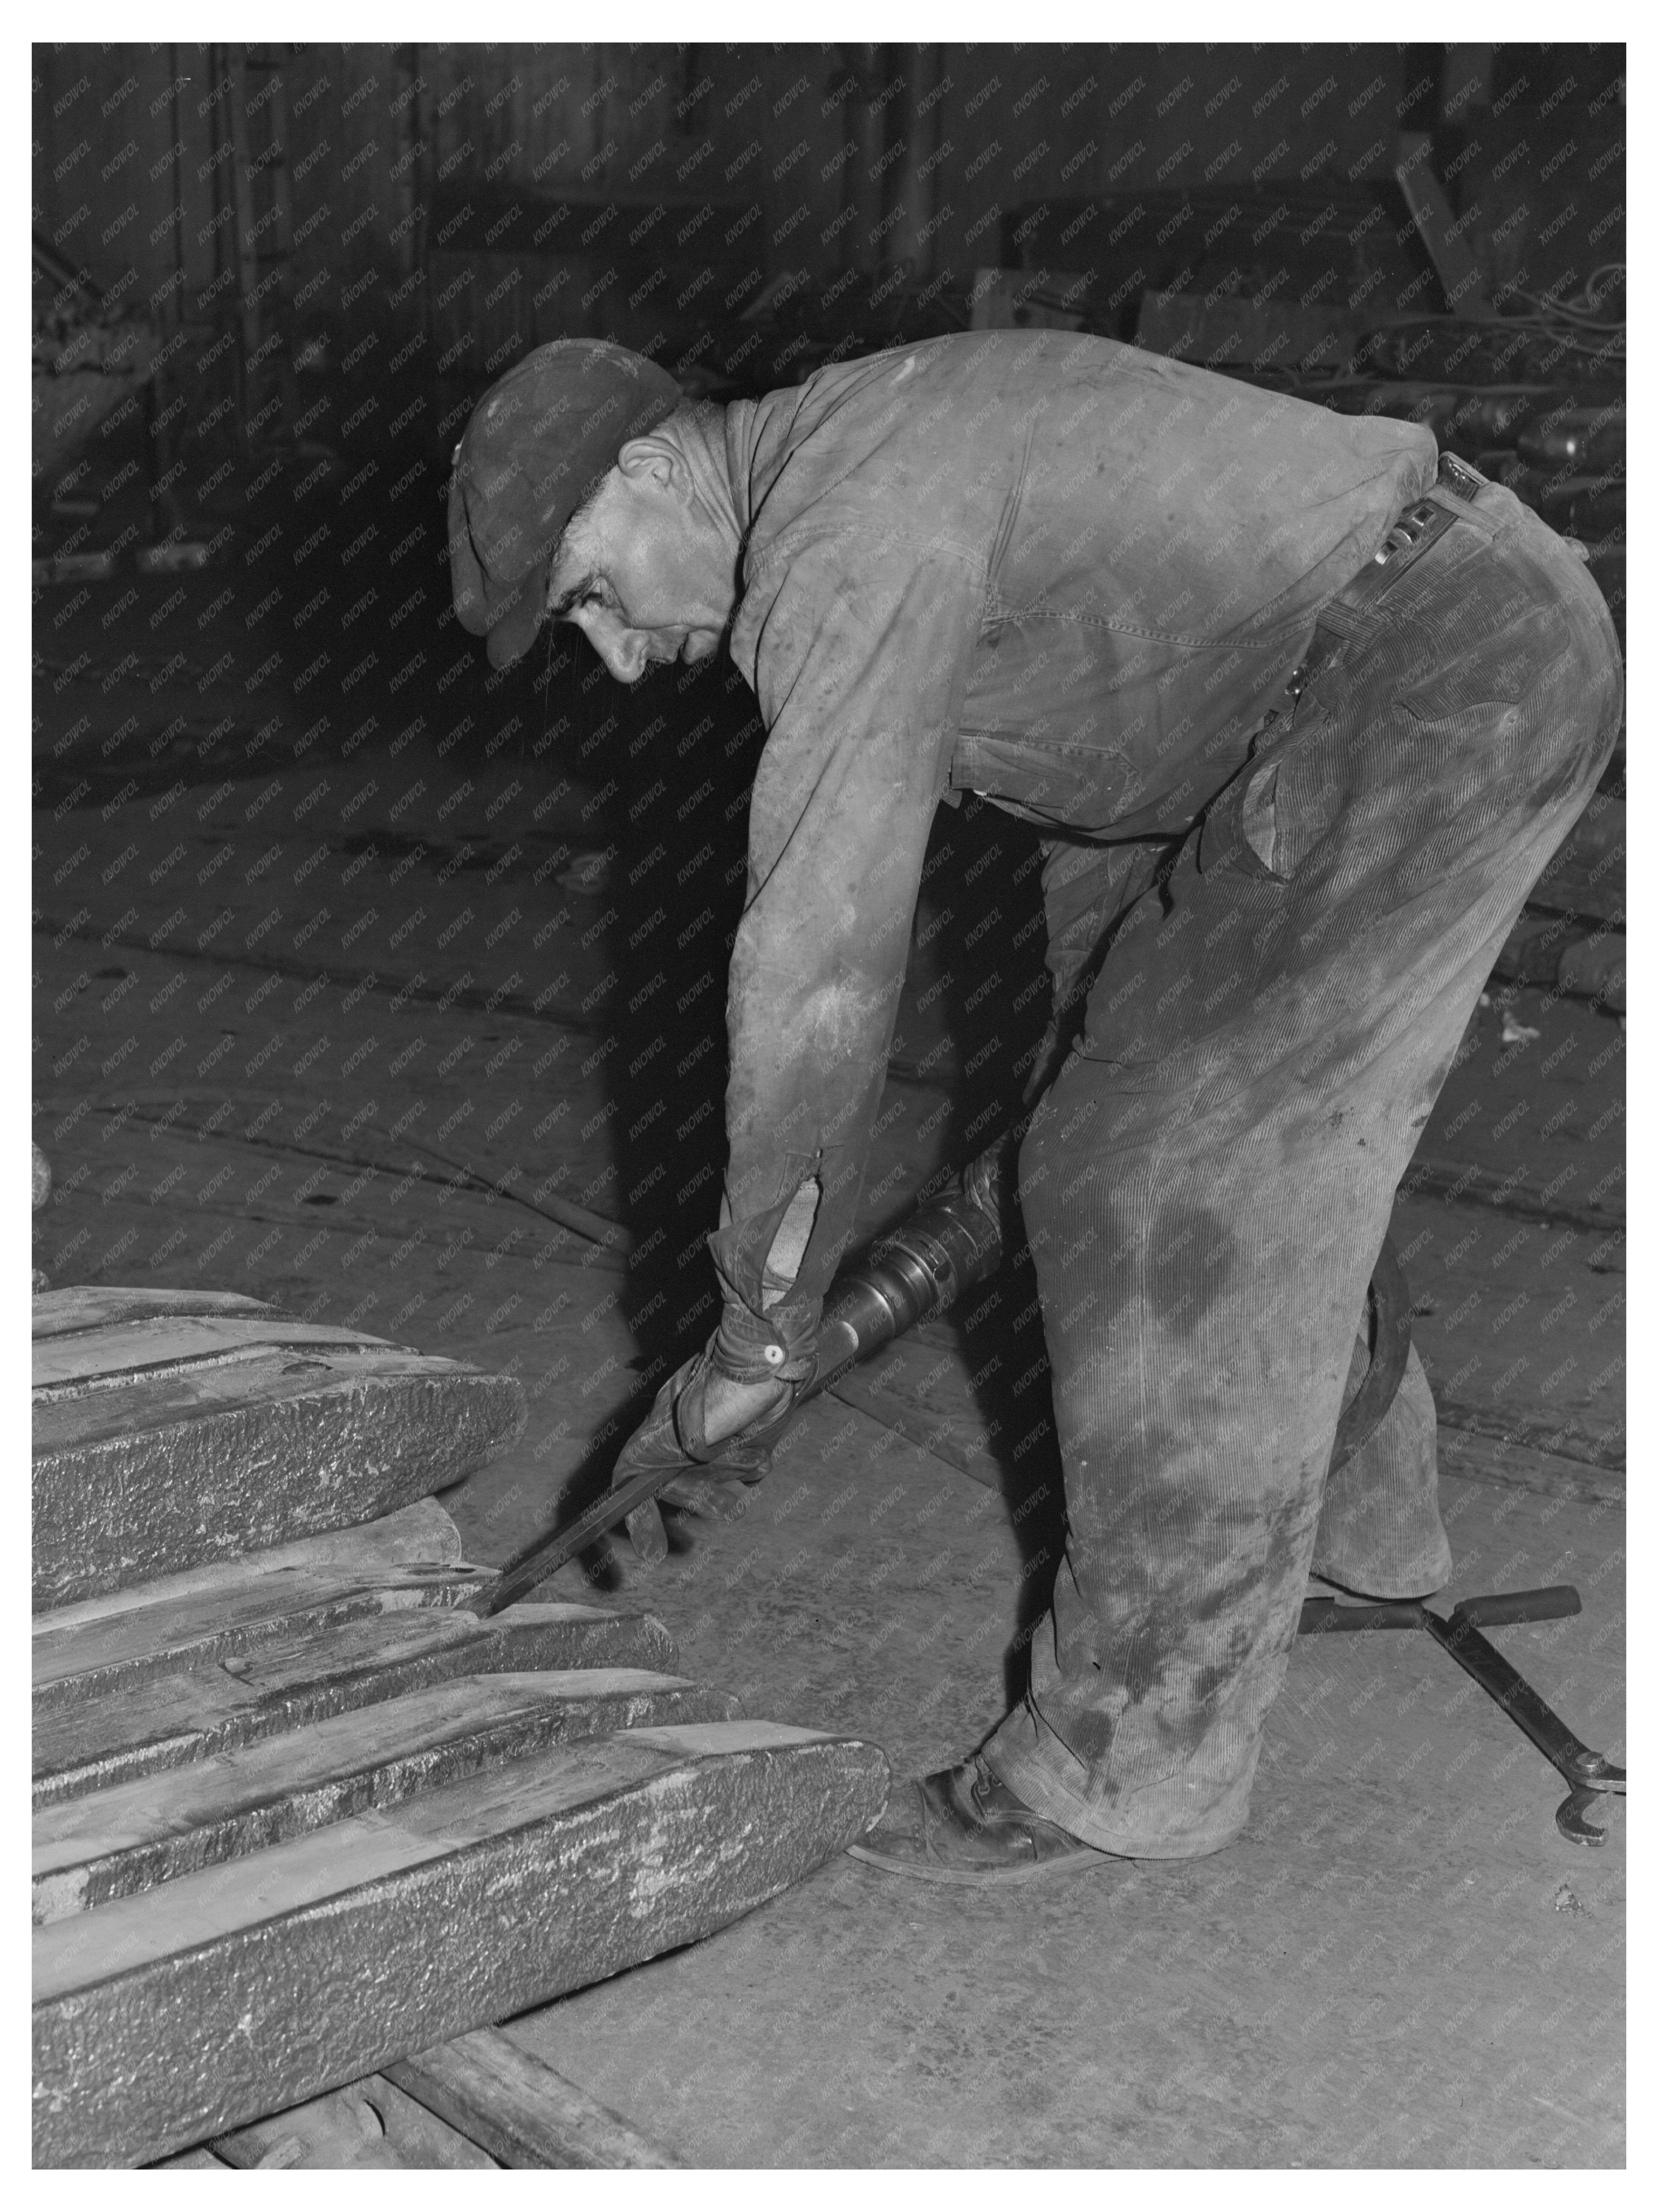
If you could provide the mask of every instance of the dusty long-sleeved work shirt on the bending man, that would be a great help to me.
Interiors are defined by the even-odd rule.
[[[1187,830],[1435,460],[1408,422],[1070,332],[933,338],[727,407],[732,659],[767,728],[710,1239],[743,1305],[811,1177],[791,1303],[849,1243],[940,801]]]

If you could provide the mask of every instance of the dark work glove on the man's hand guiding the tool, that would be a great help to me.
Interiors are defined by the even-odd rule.
[[[710,1520],[736,1520],[743,1489],[772,1469],[772,1453],[794,1420],[800,1391],[816,1367],[818,1301],[778,1305],[763,1318],[745,1305],[727,1303],[707,1345],[657,1391],[657,1402],[610,1475],[610,1486],[643,1469],[670,1471],[657,1498]],[[710,1389],[718,1380],[769,1387],[760,1411],[734,1436],[707,1440]],[[628,1535],[646,1564],[668,1557],[657,1500],[648,1498],[628,1515]]]

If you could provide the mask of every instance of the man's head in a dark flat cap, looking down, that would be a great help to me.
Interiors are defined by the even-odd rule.
[[[679,385],[599,338],[542,345],[491,387],[453,456],[449,560],[455,613],[489,633],[495,668],[546,615],[623,684],[718,648],[736,533],[703,445]]]

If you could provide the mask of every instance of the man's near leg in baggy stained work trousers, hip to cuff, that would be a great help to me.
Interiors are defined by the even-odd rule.
[[[1119,931],[1021,1159],[1070,1515],[986,1765],[1105,1851],[1249,1805],[1393,1192],[1616,737],[1605,608],[1488,493]]]

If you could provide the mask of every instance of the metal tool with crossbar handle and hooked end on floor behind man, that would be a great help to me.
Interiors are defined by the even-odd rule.
[[[1503,1712],[1532,1739],[1572,1783],[1554,1814],[1554,1825],[1567,1843],[1598,1847],[1607,1832],[1585,1818],[1587,1807],[1603,1792],[1625,1794],[1627,1774],[1614,1767],[1603,1752],[1592,1752],[1581,1743],[1565,1721],[1525,1681],[1519,1668],[1490,1644],[1481,1628],[1505,1628],[1514,1621],[1559,1621],[1572,1613],[1583,1613],[1583,1599],[1570,1582],[1550,1584],[1545,1590],[1505,1590],[1497,1597],[1463,1597],[1448,1615],[1428,1613],[1415,1599],[1395,1599],[1377,1606],[1346,1606],[1335,1597],[1309,1597],[1302,1601],[1300,1632],[1329,1635],[1331,1630],[1364,1628],[1426,1628],[1435,1644],[1444,1644],[1450,1657],[1475,1677],[1479,1688],[1492,1697]]]

